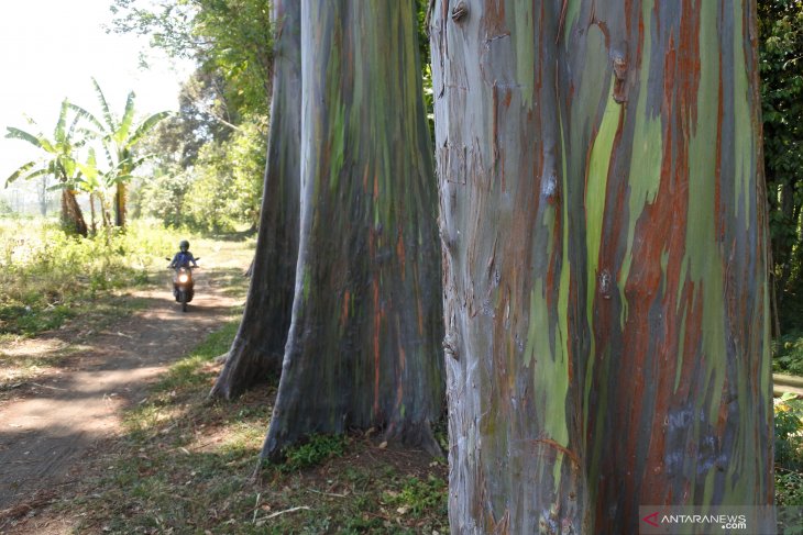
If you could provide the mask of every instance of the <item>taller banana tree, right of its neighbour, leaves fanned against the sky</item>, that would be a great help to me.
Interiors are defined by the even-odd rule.
[[[133,91],[129,92],[125,100],[125,109],[121,118],[112,113],[109,103],[106,100],[103,91],[100,89],[98,81],[92,78],[95,92],[98,97],[98,103],[102,113],[102,121],[98,120],[92,113],[84,108],[72,104],[73,109],[82,118],[86,118],[96,131],[90,133],[100,138],[103,144],[107,164],[110,167],[108,176],[114,177],[114,224],[117,226],[125,226],[125,196],[127,185],[131,180],[133,171],[140,167],[147,157],[136,157],[134,146],[151,132],[160,121],[170,114],[168,111],[162,111],[148,115],[140,123],[134,124],[134,98]]]

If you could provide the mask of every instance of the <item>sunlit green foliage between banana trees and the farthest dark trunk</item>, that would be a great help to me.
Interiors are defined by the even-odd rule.
[[[116,0],[114,29],[147,35],[199,68],[179,113],[150,140],[161,154],[135,211],[166,224],[228,232],[256,227],[265,168],[273,66],[268,0]]]

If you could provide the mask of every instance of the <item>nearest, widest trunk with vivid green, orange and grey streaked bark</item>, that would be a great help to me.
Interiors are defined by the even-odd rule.
[[[752,2],[438,0],[455,533],[772,502]]]

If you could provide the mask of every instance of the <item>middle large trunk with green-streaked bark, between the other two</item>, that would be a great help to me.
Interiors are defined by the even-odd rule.
[[[372,426],[436,452],[437,188],[415,4],[305,0],[301,29],[301,241],[263,457]]]

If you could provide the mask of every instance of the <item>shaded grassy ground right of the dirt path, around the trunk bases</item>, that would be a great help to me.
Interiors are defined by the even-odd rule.
[[[72,519],[73,533],[448,533],[446,461],[363,435],[311,437],[252,479],[276,384],[206,399],[237,326],[211,333],[128,411],[124,436],[74,494],[14,522]]]

